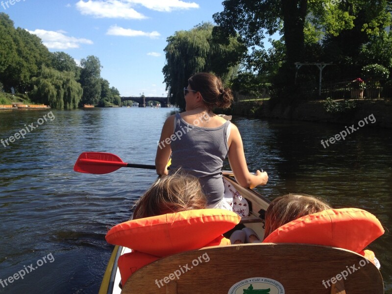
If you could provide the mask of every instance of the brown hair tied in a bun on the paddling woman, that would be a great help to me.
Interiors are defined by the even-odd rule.
[[[200,92],[205,105],[229,108],[233,101],[233,94],[229,88],[224,88],[221,78],[212,73],[196,73],[188,79],[192,90]]]

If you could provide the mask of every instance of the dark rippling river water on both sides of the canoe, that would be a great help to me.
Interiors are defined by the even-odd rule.
[[[0,111],[0,139],[6,146],[0,145],[0,293],[98,292],[113,248],[105,233],[128,219],[133,201],[156,174],[126,168],[83,174],[73,172],[73,164],[83,151],[154,164],[161,127],[172,110]],[[257,189],[263,195],[273,199],[307,193],[336,208],[359,207],[377,216],[386,233],[370,248],[381,262],[386,293],[391,293],[391,130],[361,127],[324,148],[320,140],[340,133],[344,125],[246,118],[232,122],[242,134],[249,170],[269,173],[268,185]],[[11,143],[9,137],[24,133],[22,129],[25,138]],[[10,282],[8,277],[21,270],[28,273]]]

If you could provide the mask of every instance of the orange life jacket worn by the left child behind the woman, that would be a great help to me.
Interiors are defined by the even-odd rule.
[[[106,234],[110,244],[132,248],[120,256],[123,283],[136,270],[174,253],[207,246],[230,245],[222,236],[241,220],[224,209],[197,209],[126,221]]]

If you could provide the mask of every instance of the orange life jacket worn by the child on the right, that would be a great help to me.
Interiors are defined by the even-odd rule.
[[[374,253],[364,250],[384,234],[380,221],[359,208],[328,209],[290,221],[274,230],[263,243],[305,243],[357,252],[374,263]]]

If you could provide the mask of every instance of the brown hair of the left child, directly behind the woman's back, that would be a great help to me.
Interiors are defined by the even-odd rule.
[[[207,198],[198,179],[181,171],[160,177],[135,203],[133,219],[203,209]]]

